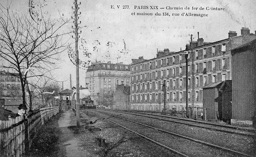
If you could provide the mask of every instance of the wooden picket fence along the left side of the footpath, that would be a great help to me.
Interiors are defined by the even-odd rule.
[[[59,113],[59,107],[40,108],[26,116],[0,121],[0,156],[28,153],[40,126]]]

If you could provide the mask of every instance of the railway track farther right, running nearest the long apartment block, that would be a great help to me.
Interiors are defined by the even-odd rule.
[[[195,127],[200,127],[200,128],[204,128],[204,129],[227,132],[227,133],[232,133],[232,134],[237,134],[237,135],[255,136],[255,134],[253,133],[254,130],[252,130],[252,129],[244,129],[244,128],[239,128],[239,127],[234,127],[234,126],[213,124],[213,123],[200,122],[200,121],[189,120],[189,119],[181,119],[181,118],[177,118],[177,117],[164,116],[164,115],[141,113],[141,112],[131,112],[131,111],[115,111],[115,112],[132,114],[132,115],[136,115],[136,116],[144,116],[144,117],[149,117],[149,118],[155,118],[155,119],[169,121],[169,122],[173,122],[173,123],[180,123],[180,124],[185,124],[185,125],[189,125],[189,126],[195,126]],[[145,115],[147,115],[147,116],[145,116]]]

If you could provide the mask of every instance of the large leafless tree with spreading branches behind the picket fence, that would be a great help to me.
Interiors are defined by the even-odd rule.
[[[58,67],[58,56],[68,46],[63,42],[64,35],[70,33],[61,29],[69,19],[57,22],[43,17],[34,21],[29,15],[13,12],[10,6],[0,4],[0,61],[2,69],[19,74],[26,104],[27,79],[44,76]]]

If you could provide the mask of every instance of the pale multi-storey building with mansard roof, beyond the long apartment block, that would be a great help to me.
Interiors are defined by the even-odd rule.
[[[98,100],[106,95],[113,96],[116,85],[130,85],[130,65],[96,62],[88,67],[85,75],[85,84],[88,84],[92,100]],[[112,102],[113,103],[113,102]]]

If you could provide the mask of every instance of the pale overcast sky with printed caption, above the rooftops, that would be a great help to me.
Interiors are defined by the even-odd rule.
[[[1,0],[5,2],[6,0]],[[80,2],[80,1],[78,1]],[[18,12],[28,13],[29,0],[15,0],[13,9]],[[43,16],[51,18],[68,18],[73,15],[71,0],[34,0],[33,3],[43,7]],[[47,5],[46,5],[47,4]],[[115,9],[111,9],[114,5]],[[120,8],[117,8],[120,5]],[[129,5],[129,9],[123,9],[123,5]],[[134,9],[137,6],[148,6],[148,9]],[[40,6],[40,5],[39,5]],[[158,10],[150,9],[150,6],[158,6]],[[166,6],[183,7],[183,10],[167,10]],[[188,6],[190,10],[185,10]],[[197,10],[191,10],[198,7]],[[256,1],[255,0],[153,0],[124,1],[124,0],[81,0],[79,12],[81,15],[82,33],[79,43],[79,56],[81,60],[91,62],[111,61],[113,63],[124,62],[130,64],[132,58],[144,56],[145,59],[156,57],[156,49],[170,51],[180,51],[185,49],[185,45],[190,40],[189,34],[193,34],[196,41],[197,32],[199,37],[206,42],[214,42],[228,38],[229,31],[236,31],[241,34],[242,27],[248,27],[251,33],[256,30]],[[37,7],[37,5],[36,5]],[[224,11],[199,10],[200,7],[225,8]],[[74,7],[73,7],[74,8]],[[127,7],[126,7],[127,8]],[[160,9],[164,8],[164,9]],[[38,8],[35,8],[35,10]],[[132,13],[152,13],[153,16],[132,15]],[[155,13],[161,13],[156,16]],[[163,12],[168,12],[171,16],[163,16]],[[172,13],[200,13],[208,14],[208,17],[186,17],[172,16]],[[71,24],[64,27],[64,30],[71,28]],[[86,44],[85,44],[86,41]],[[93,49],[95,47],[95,49]],[[98,51],[98,52],[97,52]],[[91,53],[90,58],[84,56],[84,52]],[[75,65],[68,57],[68,51],[62,54],[61,70],[54,71],[54,75],[60,81],[72,75],[72,86],[75,86]],[[85,69],[80,69],[80,84],[85,86]],[[69,80],[64,82],[64,89],[69,88]]]

